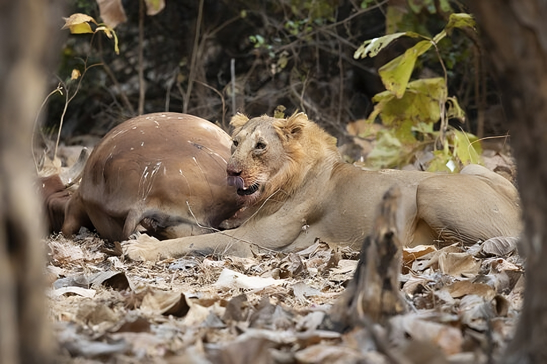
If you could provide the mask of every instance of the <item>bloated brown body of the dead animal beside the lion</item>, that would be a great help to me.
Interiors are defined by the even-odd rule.
[[[91,153],[63,234],[91,224],[110,241],[126,240],[139,225],[158,238],[210,232],[239,207],[226,184],[230,144],[222,129],[191,115],[120,124]]]

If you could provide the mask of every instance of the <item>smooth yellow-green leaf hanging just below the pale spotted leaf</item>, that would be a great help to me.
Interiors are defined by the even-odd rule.
[[[406,50],[403,55],[386,63],[378,70],[383,85],[398,99],[403,97],[405,93],[406,85],[408,85],[410,75],[412,75],[412,71],[414,70],[416,59],[423,55],[431,45],[431,41],[422,40]]]

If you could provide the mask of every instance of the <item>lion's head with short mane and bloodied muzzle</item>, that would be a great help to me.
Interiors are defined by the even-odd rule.
[[[336,140],[300,112],[284,119],[232,117],[228,182],[245,205],[292,195],[313,168],[340,160]],[[275,195],[275,197],[273,197]]]

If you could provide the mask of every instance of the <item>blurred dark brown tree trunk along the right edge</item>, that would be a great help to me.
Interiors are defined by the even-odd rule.
[[[547,363],[547,2],[468,1],[498,74],[519,169],[526,293],[507,363]]]

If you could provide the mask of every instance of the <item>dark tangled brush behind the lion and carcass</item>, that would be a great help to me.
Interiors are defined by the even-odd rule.
[[[391,1],[389,6],[405,3]],[[383,90],[377,68],[403,53],[415,40],[401,39],[375,58],[356,60],[354,51],[364,40],[386,33],[386,16],[387,23],[396,23],[398,31],[437,33],[446,22],[446,14],[438,2],[435,4],[437,9],[424,7],[419,13],[409,10],[394,21],[389,19],[387,1],[206,0],[196,46],[197,82],[188,113],[222,125],[220,93],[225,105],[224,126],[236,111],[250,116],[272,115],[277,105],[284,105],[287,114],[303,110],[339,138],[339,144],[346,142],[345,124],[365,118],[372,110],[371,97]],[[88,55],[88,66],[104,63],[112,70],[109,76],[99,66],[85,74],[66,112],[61,133],[66,144],[92,143],[135,115],[139,89],[138,1],[124,0],[123,5],[127,22],[116,28],[119,56],[113,52],[112,40],[102,32],[71,34],[63,45],[62,62],[57,75],[51,77],[51,89],[58,79],[70,77],[72,69],[83,71],[82,59]],[[451,2],[451,6],[465,10],[458,2]],[[161,13],[144,19],[146,113],[165,111],[167,99],[169,111],[183,111],[198,7],[199,0],[167,0]],[[71,13],[99,19],[95,0],[73,1]],[[497,87],[487,71],[482,79],[477,77],[481,50],[472,37],[454,32],[440,44],[440,52],[447,65],[449,95],[458,98],[468,115],[464,129],[476,133],[478,109],[482,108],[486,134],[503,134]],[[231,106],[231,59],[235,59],[236,110]],[[418,62],[414,77],[443,74],[434,52]],[[486,87],[476,93],[477,86],[481,86],[478,83]],[[131,108],[123,102],[121,93]],[[51,97],[42,128],[45,136],[56,132],[64,106],[64,96]]]

